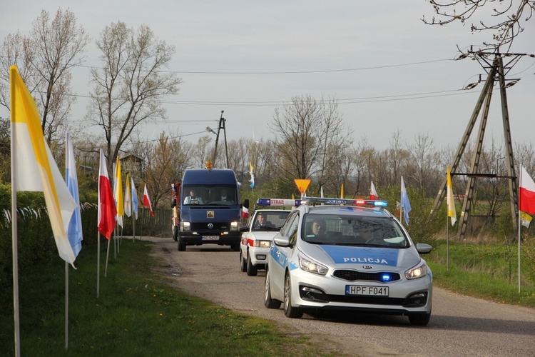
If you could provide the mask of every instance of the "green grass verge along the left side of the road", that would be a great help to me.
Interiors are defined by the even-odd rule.
[[[22,356],[321,356],[303,336],[285,336],[275,322],[235,313],[171,288],[151,273],[147,242],[123,241],[96,297],[96,243],[69,269],[68,351],[65,351],[65,265],[19,276]],[[0,346],[14,356],[13,291],[0,291]]]

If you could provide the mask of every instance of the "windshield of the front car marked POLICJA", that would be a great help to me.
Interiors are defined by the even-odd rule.
[[[302,240],[313,244],[405,248],[409,241],[389,217],[322,215],[303,219]]]

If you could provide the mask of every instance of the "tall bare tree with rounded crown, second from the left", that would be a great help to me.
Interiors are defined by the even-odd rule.
[[[103,29],[96,46],[103,68],[91,69],[88,117],[103,129],[111,159],[139,124],[165,118],[161,100],[177,94],[182,79],[163,71],[175,47],[158,41],[148,26],[134,31],[120,21],[111,24]]]

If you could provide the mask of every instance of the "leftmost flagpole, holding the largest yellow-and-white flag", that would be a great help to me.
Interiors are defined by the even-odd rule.
[[[19,248],[17,246],[17,211],[16,211],[16,150],[15,150],[15,74],[16,68],[9,69],[9,87],[11,96],[11,242],[13,254],[13,315],[15,323],[15,356],[21,356],[21,336],[19,321]]]

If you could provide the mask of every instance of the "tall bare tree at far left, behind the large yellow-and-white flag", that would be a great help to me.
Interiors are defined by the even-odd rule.
[[[77,26],[76,16],[59,9],[51,19],[49,12],[41,11],[34,20],[29,37],[8,35],[4,40],[0,63],[4,83],[0,87],[0,104],[9,109],[6,83],[9,83],[11,64],[21,67],[21,77],[29,87],[41,114],[41,126],[46,140],[62,138],[58,133],[76,102],[72,95],[71,69],[83,64],[83,50],[89,36],[82,26]]]

